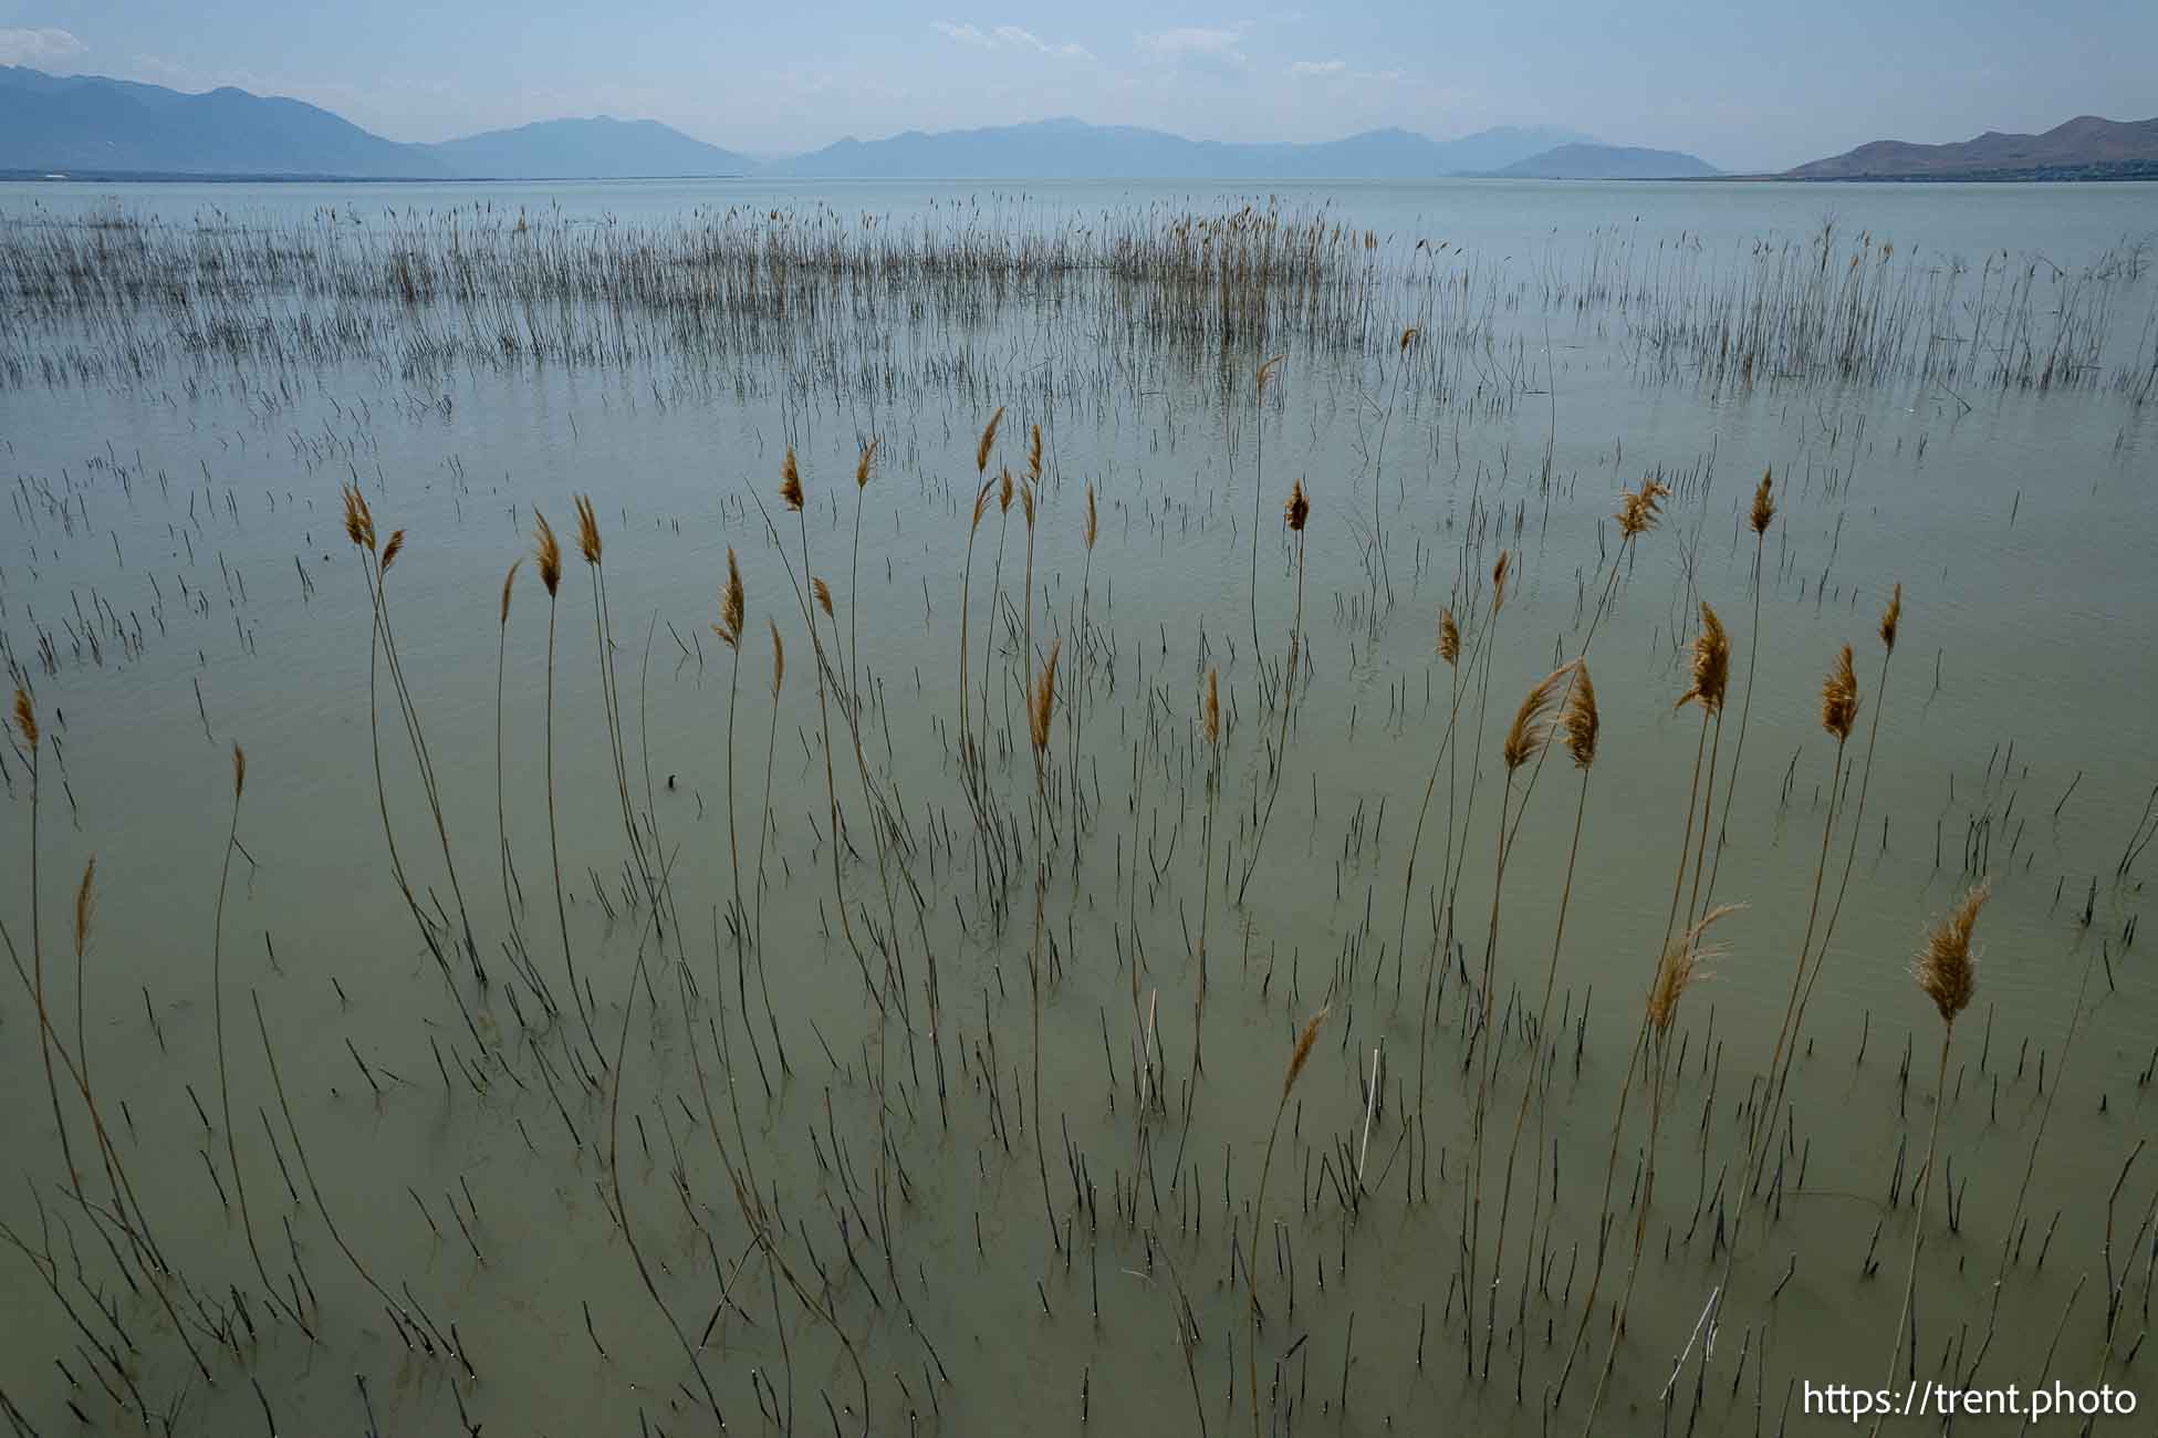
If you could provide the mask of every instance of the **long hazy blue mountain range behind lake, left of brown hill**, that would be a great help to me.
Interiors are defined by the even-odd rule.
[[[0,173],[343,179],[1623,179],[1713,175],[1694,155],[1599,145],[1552,125],[1454,140],[1366,130],[1319,145],[1189,140],[1135,125],[1049,119],[911,130],[760,164],[656,121],[559,119],[440,145],[404,145],[298,99],[170,91],[0,65]]]

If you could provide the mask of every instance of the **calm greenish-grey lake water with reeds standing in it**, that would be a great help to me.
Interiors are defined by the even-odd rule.
[[[1621,1434],[2139,1390],[2154,238],[2158,186],[0,186],[43,730],[0,1393],[1237,1432],[1256,1375],[1269,1432]],[[1593,767],[1508,771],[1584,650]],[[1912,961],[1981,879],[1942,1060]]]

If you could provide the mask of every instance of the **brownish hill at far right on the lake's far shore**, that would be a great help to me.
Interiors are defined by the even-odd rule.
[[[1785,179],[2158,179],[2158,119],[2080,114],[2046,134],[1988,130],[1955,145],[1873,140]]]

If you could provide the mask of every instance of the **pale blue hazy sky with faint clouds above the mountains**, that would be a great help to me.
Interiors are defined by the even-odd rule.
[[[0,63],[293,95],[395,140],[615,114],[753,155],[1070,114],[1245,140],[1565,125],[1785,168],[2149,119],[2154,54],[2154,0],[0,0]]]

